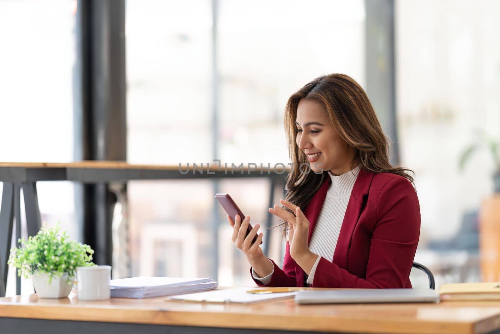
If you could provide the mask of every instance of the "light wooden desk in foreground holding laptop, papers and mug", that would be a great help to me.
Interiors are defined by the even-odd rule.
[[[296,305],[282,299],[250,305],[111,298],[0,298],[5,333],[498,333],[500,302]],[[19,319],[23,318],[22,321]],[[58,320],[58,321],[54,321]]]

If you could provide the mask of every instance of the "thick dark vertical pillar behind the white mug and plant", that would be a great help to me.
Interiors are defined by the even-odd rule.
[[[125,1],[79,0],[76,16],[74,159],[126,161]],[[75,188],[83,242],[97,264],[112,264],[115,201],[107,183]]]

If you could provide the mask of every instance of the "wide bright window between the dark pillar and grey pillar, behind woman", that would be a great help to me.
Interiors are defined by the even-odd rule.
[[[288,97],[323,74],[348,73],[364,84],[362,1],[218,4],[213,44],[211,1],[127,1],[129,162],[286,164]],[[213,46],[217,157],[212,156]],[[211,181],[130,182],[128,190],[132,274],[210,275]],[[265,179],[223,180],[219,191],[230,193],[252,223],[262,225]],[[222,210],[220,217],[219,284],[252,284]],[[269,231],[264,234],[270,237]],[[280,243],[272,245],[279,254]]]

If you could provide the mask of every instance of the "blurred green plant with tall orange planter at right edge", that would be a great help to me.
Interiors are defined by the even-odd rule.
[[[479,254],[481,276],[483,281],[500,280],[500,154],[499,142],[483,131],[476,131],[476,140],[470,144],[460,156],[459,169],[473,152],[487,148],[495,164],[493,173],[493,195],[484,198],[479,209]]]

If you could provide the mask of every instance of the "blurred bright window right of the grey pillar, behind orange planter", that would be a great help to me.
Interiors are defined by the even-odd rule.
[[[436,286],[479,281],[478,210],[494,165],[487,150],[463,172],[459,160],[474,131],[500,135],[500,4],[398,1],[395,13],[399,147],[422,218],[415,260]]]

